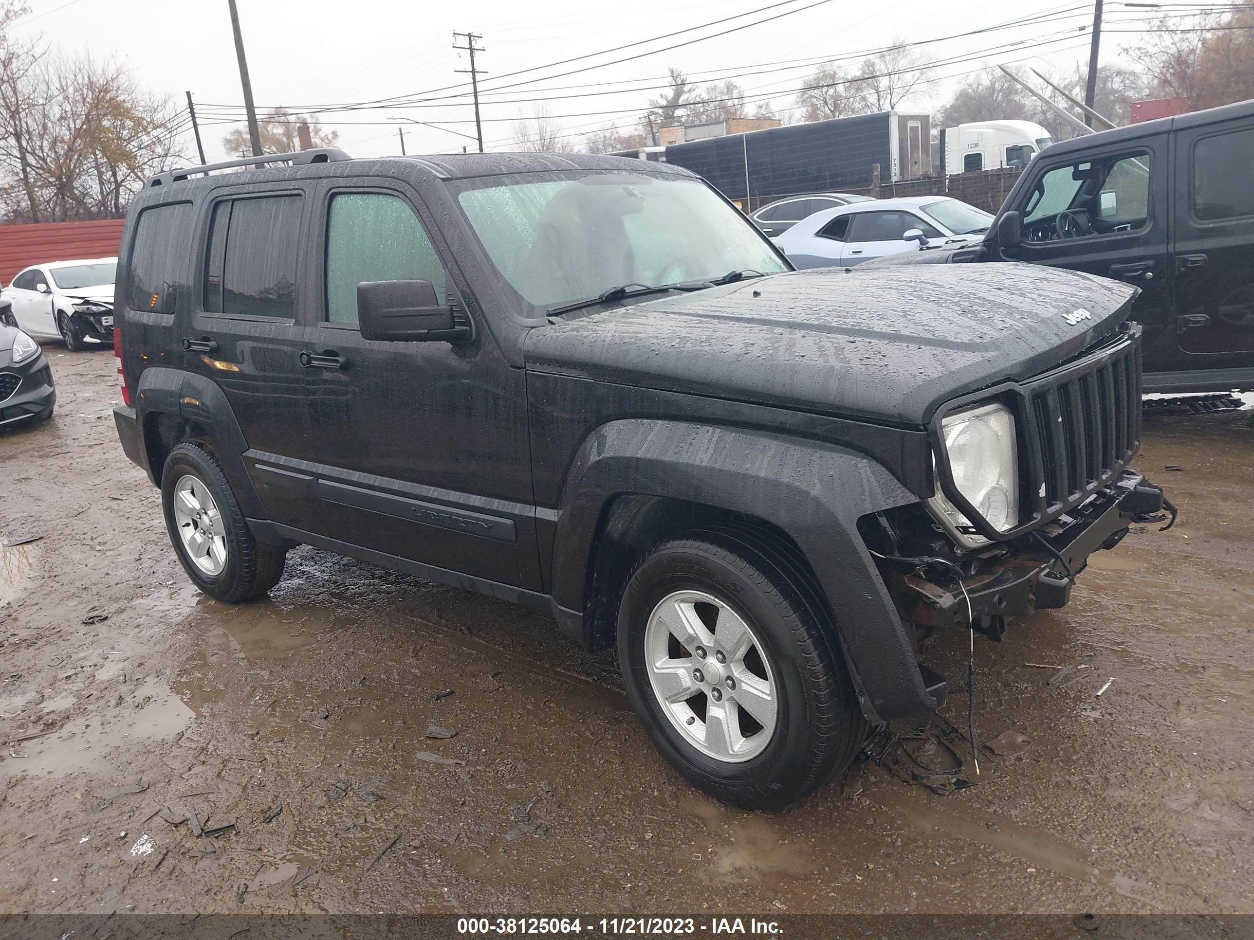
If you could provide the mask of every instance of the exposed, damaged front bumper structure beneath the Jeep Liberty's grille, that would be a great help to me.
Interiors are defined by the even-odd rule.
[[[1041,529],[982,556],[976,553],[962,587],[935,567],[905,575],[908,619],[943,627],[969,618],[977,630],[999,639],[1007,618],[1065,607],[1088,555],[1117,545],[1135,521],[1165,518],[1160,515],[1165,509],[1172,511],[1174,521],[1162,490],[1136,470],[1124,470],[1112,484]]]

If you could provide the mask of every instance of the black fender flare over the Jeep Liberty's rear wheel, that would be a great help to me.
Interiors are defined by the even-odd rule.
[[[148,456],[148,475],[155,484],[161,473],[153,465],[148,447],[148,415],[164,414],[189,424],[199,425],[213,445],[214,456],[222,465],[236,500],[250,519],[265,519],[261,498],[243,464],[248,450],[240,421],[227,400],[226,392],[209,379],[177,368],[150,366],[139,375],[135,411],[144,429],[144,450]]]

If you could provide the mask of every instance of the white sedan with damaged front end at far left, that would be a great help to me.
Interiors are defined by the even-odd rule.
[[[109,345],[117,268],[117,258],[33,264],[0,297],[13,303],[13,318],[36,340],[59,337],[70,350]]]

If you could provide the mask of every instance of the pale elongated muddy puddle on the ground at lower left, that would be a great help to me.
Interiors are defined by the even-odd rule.
[[[187,728],[193,714],[178,696],[157,683],[139,686],[133,699],[138,708],[118,708],[105,721],[78,718],[56,733],[24,742],[16,749],[13,771],[64,777],[75,771],[108,771],[109,755],[134,741],[169,738]],[[124,753],[124,751],[123,751]]]

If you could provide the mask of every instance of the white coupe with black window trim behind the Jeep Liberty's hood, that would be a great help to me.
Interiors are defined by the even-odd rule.
[[[851,268],[925,244],[977,242],[993,217],[948,196],[877,199],[816,212],[772,238],[799,268]]]

